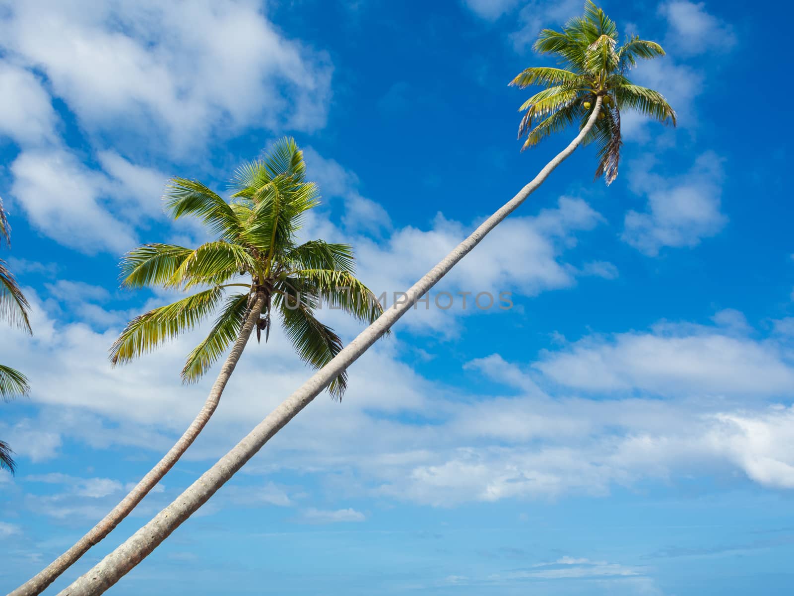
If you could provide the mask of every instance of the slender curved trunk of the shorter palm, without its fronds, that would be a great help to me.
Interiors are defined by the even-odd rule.
[[[129,512],[135,509],[135,506],[141,502],[141,499],[143,499],[143,497],[156,486],[157,482],[160,482],[164,475],[168,473],[168,470],[171,470],[174,464],[179,461],[182,454],[187,451],[187,447],[190,447],[191,443],[193,443],[198,436],[198,433],[202,432],[202,429],[210,420],[210,416],[215,412],[215,408],[218,407],[218,401],[221,399],[223,389],[226,383],[229,382],[229,377],[232,376],[234,367],[237,366],[237,361],[240,359],[240,355],[245,349],[245,344],[251,336],[251,331],[253,331],[253,327],[259,319],[265,302],[266,298],[264,294],[260,293],[256,296],[251,311],[245,319],[245,323],[243,323],[240,335],[237,336],[237,341],[232,346],[229,356],[226,357],[221,372],[218,374],[218,378],[215,380],[214,385],[212,385],[210,395],[204,402],[204,407],[201,408],[201,412],[198,412],[198,416],[195,417],[195,420],[193,420],[190,427],[187,428],[187,431],[185,431],[175,443],[174,447],[164,455],[163,459],[160,459],[160,462],[157,462],[157,465],[141,479],[141,482],[137,483],[133,490],[129,491],[129,494],[124,497],[102,521],[91,528],[91,531],[78,540],[75,545],[64,552],[63,555],[60,555],[60,557],[45,567],[44,570],[40,571],[16,590],[13,590],[8,596],[35,596],[36,594],[41,594],[47,586],[54,582],[58,576],[75,563],[77,559],[83,556],[89,548],[110,534],[113,528],[121,523],[121,520],[127,517]]]

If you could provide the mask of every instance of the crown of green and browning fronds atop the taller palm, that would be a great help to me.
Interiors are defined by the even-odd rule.
[[[602,111],[584,143],[598,143],[595,178],[603,174],[607,184],[611,184],[618,176],[621,110],[638,110],[659,122],[676,125],[676,113],[664,96],[634,85],[626,77],[638,59],[664,56],[661,45],[633,36],[618,47],[615,21],[590,0],[584,5],[584,15],[565,23],[562,31],[543,29],[534,49],[557,56],[562,68],[527,68],[510,83],[522,89],[530,85],[546,87],[519,108],[526,111],[518,127],[519,138],[526,134],[522,149],[537,145],[573,122],[584,127],[595,109],[595,99],[601,97]]]

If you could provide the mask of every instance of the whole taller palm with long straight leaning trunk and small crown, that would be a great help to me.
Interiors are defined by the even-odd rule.
[[[345,346],[326,366],[314,373],[295,393],[292,393],[290,397],[287,397],[285,401],[279,404],[240,443],[237,443],[231,451],[202,474],[171,505],[168,505],[145,526],[135,532],[129,540],[126,540],[110,555],[102,559],[91,571],[88,571],[87,574],[60,592],[60,596],[94,596],[95,594],[102,594],[140,563],[141,560],[145,559],[179,524],[186,521],[237,470],[240,470],[245,465],[245,462],[248,462],[264,446],[264,443],[267,443],[293,416],[297,415],[307,404],[314,400],[314,397],[317,397],[333,379],[342,371],[347,370],[361,354],[364,354],[373,343],[380,339],[402,315],[412,308],[419,298],[428,292],[430,288],[433,288],[454,265],[477,246],[488,232],[502,222],[507,215],[515,211],[526,197],[543,183],[553,169],[557,168],[562,161],[574,152],[576,147],[591,139],[599,140],[602,144],[606,142],[605,146],[607,146],[607,149],[601,152],[599,168],[603,164],[604,172],[609,172],[607,180],[615,175],[616,164],[614,160],[617,154],[615,152],[616,149],[619,149],[620,139],[619,137],[614,137],[616,131],[612,126],[599,126],[599,114],[609,112],[610,115],[607,116],[605,114],[601,118],[601,122],[614,123],[616,118],[618,118],[619,110],[623,108],[636,108],[644,114],[654,115],[657,114],[654,111],[656,108],[652,109],[651,106],[661,105],[659,102],[664,102],[661,95],[658,95],[655,91],[640,91],[642,87],[627,87],[629,83],[621,83],[620,86],[615,85],[615,81],[622,81],[622,79],[616,78],[616,75],[622,77],[622,72],[632,65],[634,60],[661,55],[661,48],[658,48],[655,44],[651,45],[650,42],[639,43],[638,40],[630,39],[621,50],[617,50],[615,49],[616,38],[617,33],[615,33],[614,22],[602,10],[596,8],[592,2],[587,2],[585,5],[584,17],[572,19],[561,32],[544,30],[541,33],[536,45],[538,51],[558,56],[568,67],[565,71],[576,75],[577,78],[576,82],[570,83],[560,79],[559,84],[557,84],[553,83],[553,75],[546,71],[549,72],[549,75],[535,80],[538,83],[554,84],[555,87],[565,87],[567,91],[550,91],[553,88],[551,87],[549,89],[549,97],[559,96],[568,92],[569,95],[565,96],[568,99],[565,101],[558,99],[557,103],[549,100],[550,103],[557,106],[552,108],[549,107],[549,104],[544,104],[545,99],[541,98],[530,102],[529,105],[525,104],[525,109],[540,104],[540,107],[533,109],[533,114],[545,115],[547,119],[549,116],[565,110],[548,124],[543,125],[543,122],[546,121],[538,124],[538,126],[543,126],[543,128],[538,130],[536,136],[541,134],[545,136],[552,131],[563,130],[567,123],[574,122],[576,114],[581,114],[583,109],[588,110],[584,122],[581,123],[579,134],[561,153],[558,153],[552,161],[549,161],[542,168],[534,180],[526,184],[515,197],[495,211],[468,238],[408,289],[406,300],[399,301],[399,304],[392,304],[391,308],[388,308],[383,315],[380,315],[375,323],[372,323],[362,331],[356,339],[353,339],[353,342]],[[653,51],[648,49],[652,47],[658,49]],[[537,76],[540,77],[539,74]],[[568,75],[561,74],[559,76],[566,77]],[[583,86],[585,80],[588,81],[587,87]],[[523,84],[528,85],[531,83],[530,81],[525,81]],[[577,91],[580,88],[583,91]],[[610,96],[611,100],[602,112],[602,106],[607,96]],[[591,102],[594,105],[585,106],[582,103],[581,106],[574,106],[574,101],[578,102],[580,99],[588,97],[595,100]],[[666,102],[663,105],[667,106]],[[674,118],[673,110],[669,107],[665,107],[665,110],[667,110],[665,113],[668,114],[669,119],[672,121]],[[571,118],[566,114],[572,114]],[[607,120],[607,118],[611,119]],[[522,132],[528,126],[530,126],[530,122],[524,122]],[[538,126],[532,130],[536,130]],[[599,135],[604,134],[613,136],[606,139],[599,137]],[[538,136],[538,140],[540,138]],[[606,162],[604,162],[605,156],[609,156]]]

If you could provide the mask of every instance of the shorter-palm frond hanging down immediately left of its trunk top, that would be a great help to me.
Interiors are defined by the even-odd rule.
[[[200,377],[221,358],[225,350],[237,339],[245,314],[248,312],[249,294],[233,294],[226,298],[218,319],[206,338],[195,346],[188,354],[187,362],[182,369],[182,381],[192,383]]]

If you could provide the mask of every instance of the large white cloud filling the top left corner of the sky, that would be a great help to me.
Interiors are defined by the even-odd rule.
[[[0,39],[88,130],[137,134],[145,123],[184,153],[249,125],[324,126],[324,53],[283,37],[254,2],[189,6],[32,0],[10,8]]]

